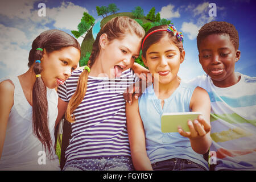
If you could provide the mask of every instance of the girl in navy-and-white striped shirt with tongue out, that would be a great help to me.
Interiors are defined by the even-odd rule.
[[[135,20],[111,19],[98,32],[88,65],[58,87],[58,118],[67,108],[72,129],[64,170],[133,169],[123,92],[138,80],[135,70],[147,71],[134,69],[143,36]]]

